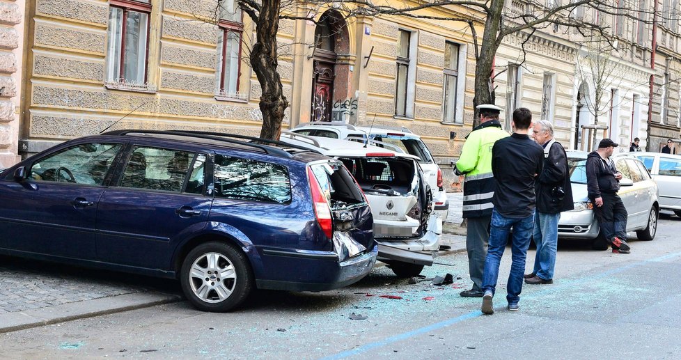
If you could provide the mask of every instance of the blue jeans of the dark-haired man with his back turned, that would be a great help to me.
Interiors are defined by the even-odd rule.
[[[520,301],[522,291],[523,274],[525,273],[525,258],[527,248],[530,246],[530,238],[534,230],[534,213],[522,219],[503,217],[496,209],[492,212],[492,224],[490,226],[490,247],[487,249],[485,258],[485,275],[483,275],[483,291],[496,291],[496,279],[499,277],[499,263],[503,250],[508,243],[508,234],[511,228],[512,264],[508,283],[506,285],[506,300],[508,304],[517,304]]]

